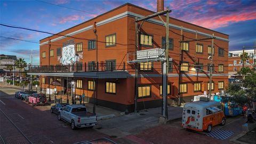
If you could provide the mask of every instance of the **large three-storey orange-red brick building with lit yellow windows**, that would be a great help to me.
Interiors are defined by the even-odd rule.
[[[116,9],[98,15],[77,26],[41,39],[40,73],[42,89],[54,88],[63,93],[71,91],[74,81],[75,95],[85,94],[85,100],[120,111],[134,110],[134,64],[128,63],[127,54],[135,51],[135,17],[145,17],[155,12],[133,4],[124,4]],[[175,14],[175,13],[171,13]],[[161,16],[165,21],[165,16]],[[93,26],[96,22],[97,36]],[[170,46],[168,102],[178,99],[179,50],[181,26],[185,40],[214,39],[214,72],[212,92],[216,93],[228,85],[228,35],[170,17]],[[165,48],[165,27],[159,18],[143,23],[140,29],[139,50],[156,47]],[[189,38],[188,38],[189,37]],[[95,39],[98,38],[98,41]],[[181,102],[194,99],[209,89],[211,40],[188,42],[182,51]],[[197,69],[193,70],[196,67]],[[203,70],[200,70],[203,69]],[[52,73],[47,73],[51,71]],[[70,73],[66,73],[66,72]],[[72,73],[71,73],[72,72]],[[51,90],[50,90],[51,89]],[[141,62],[138,74],[138,109],[162,105],[162,64]]]

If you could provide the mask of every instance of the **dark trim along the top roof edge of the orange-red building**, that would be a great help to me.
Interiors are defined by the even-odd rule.
[[[115,11],[115,10],[117,10],[117,9],[120,9],[121,7],[126,6],[126,5],[131,5],[131,6],[134,6],[134,7],[139,8],[139,9],[142,9],[142,10],[145,10],[145,11],[148,11],[148,12],[151,12],[151,13],[155,13],[154,11],[145,9],[145,8],[143,8],[143,7],[140,7],[140,6],[131,4],[131,3],[125,3],[125,4],[123,4],[123,5],[120,5],[120,6],[116,7],[115,9],[112,9],[112,10],[109,10],[109,11],[107,11],[107,12],[105,12],[105,13],[102,13],[102,14],[100,14],[100,15],[97,15],[97,17],[95,17],[95,18],[92,18],[92,19],[90,19],[90,20],[86,20],[86,21],[84,21],[84,22],[82,22],[82,23],[79,23],[79,24],[73,26],[73,27],[70,27],[70,28],[68,28],[68,29],[62,30],[62,31],[60,31],[59,33],[57,33],[57,34],[55,34],[55,35],[59,35],[60,33],[63,33],[63,32],[66,31],[66,30],[69,30],[69,29],[71,29],[71,28],[77,27],[77,26],[79,26],[79,25],[83,25],[83,24],[86,23],[86,22],[89,22],[89,21],[92,21],[92,20],[94,20],[94,19],[97,19],[98,17],[101,17],[102,15],[105,15],[105,14],[107,14],[107,13],[110,13],[110,12],[112,12],[112,11]],[[163,15],[163,16],[166,17],[165,15]],[[200,28],[203,28],[203,29],[206,29],[206,30],[211,30],[211,31],[214,31],[214,32],[216,32],[216,33],[220,33],[219,31],[215,31],[215,30],[212,30],[212,29],[209,29],[209,28],[205,28],[205,27],[202,27],[202,26],[198,26],[198,25],[195,25],[195,24],[190,23],[190,22],[186,22],[186,21],[183,21],[183,20],[175,19],[175,18],[172,18],[172,17],[169,17],[169,18],[170,18],[170,19],[173,19],[173,20],[180,21],[180,22],[188,23],[189,25],[193,25],[193,26],[196,26],[196,27],[200,27]],[[224,34],[224,33],[220,33],[220,34],[229,36],[229,35]],[[54,35],[51,35],[51,36],[54,36]],[[49,37],[51,37],[51,36],[48,36],[48,37],[45,37],[45,38],[49,38]],[[42,39],[40,39],[39,41],[42,41],[42,40],[45,39],[45,38],[42,38]]]

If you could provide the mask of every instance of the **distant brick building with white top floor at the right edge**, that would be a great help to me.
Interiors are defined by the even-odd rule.
[[[244,52],[248,54],[249,59],[243,63],[243,61],[241,60],[241,54],[243,54],[243,50],[229,51],[229,55],[228,55],[229,78],[242,78],[241,75],[237,75],[237,71],[239,71],[243,66],[253,68],[255,64],[254,49],[244,50]]]

